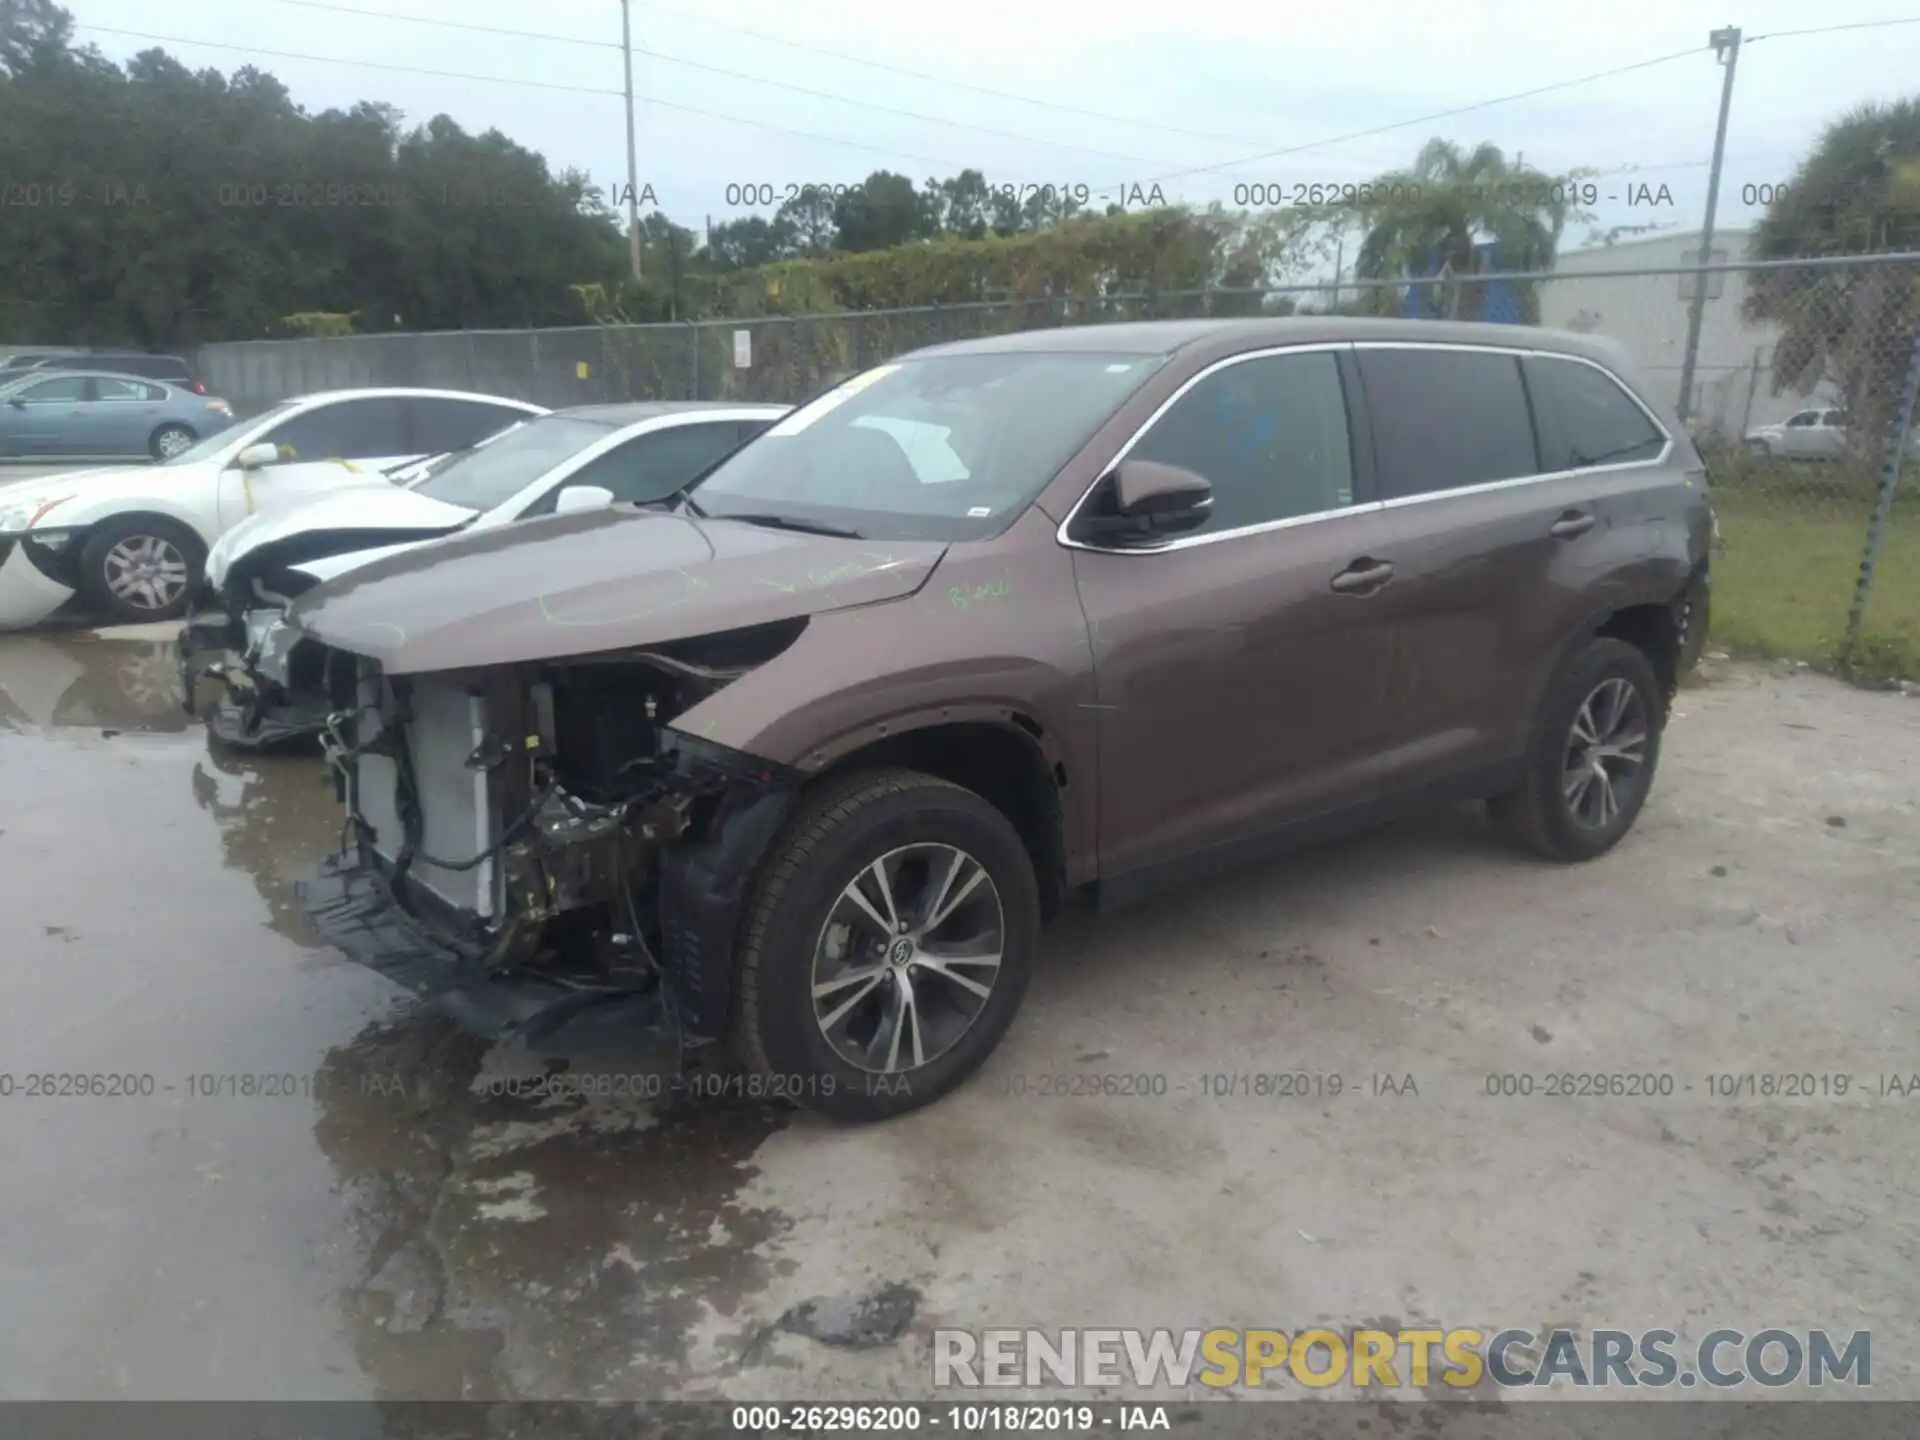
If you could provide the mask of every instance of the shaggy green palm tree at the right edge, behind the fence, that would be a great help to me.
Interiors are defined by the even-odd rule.
[[[1753,259],[1920,248],[1920,98],[1834,121],[1755,227]],[[1878,459],[1920,324],[1908,267],[1753,271],[1745,313],[1780,326],[1774,394],[1832,380],[1849,442]]]

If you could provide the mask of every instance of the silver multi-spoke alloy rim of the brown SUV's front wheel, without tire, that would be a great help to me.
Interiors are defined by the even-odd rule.
[[[872,1073],[947,1054],[993,998],[1006,945],[1000,891],[954,845],[902,845],[841,889],[814,943],[814,1023]]]

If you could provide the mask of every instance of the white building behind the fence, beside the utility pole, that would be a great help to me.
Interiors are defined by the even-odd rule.
[[[1715,230],[1713,263],[1740,263],[1749,236],[1749,230]],[[1663,390],[1665,399],[1678,403],[1688,309],[1697,278],[1684,271],[1697,263],[1697,230],[1561,253],[1553,261],[1555,278],[1540,286],[1540,323],[1619,340]],[[1663,273],[1613,276],[1597,271]],[[1740,311],[1745,298],[1745,273],[1707,276],[1692,405],[1699,434],[1718,430],[1738,438],[1757,424],[1772,424],[1812,403],[1836,399],[1824,386],[1811,396],[1791,390],[1772,394],[1780,326],[1743,321]]]

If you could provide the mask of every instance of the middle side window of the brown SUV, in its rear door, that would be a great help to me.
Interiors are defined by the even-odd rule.
[[[1517,355],[1359,349],[1380,499],[1540,472]]]

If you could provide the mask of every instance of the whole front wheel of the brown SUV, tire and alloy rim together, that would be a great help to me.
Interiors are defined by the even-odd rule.
[[[828,781],[749,902],[735,1046],[829,1119],[916,1110],[1000,1043],[1039,925],[1033,860],[979,795],[910,770]]]

